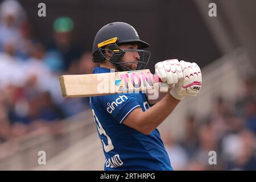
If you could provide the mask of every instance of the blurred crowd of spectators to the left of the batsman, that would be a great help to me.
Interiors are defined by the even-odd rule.
[[[72,39],[74,22],[52,22],[51,41],[33,34],[16,0],[0,4],[0,143],[41,126],[54,125],[89,107],[88,98],[64,99],[59,76],[92,73],[90,50]]]

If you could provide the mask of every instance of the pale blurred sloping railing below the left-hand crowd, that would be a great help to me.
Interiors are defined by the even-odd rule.
[[[60,156],[64,151],[68,151],[68,148],[76,146],[82,140],[85,142],[85,147],[90,146],[92,143],[97,143],[97,141],[100,142],[100,139],[94,136],[97,132],[91,110],[65,119],[65,121],[60,122],[59,126],[61,129],[58,135],[53,134],[49,128],[43,127],[23,137],[1,144],[0,170],[40,169],[41,166],[38,164],[39,151],[46,151],[46,160],[49,164],[44,167],[46,169],[55,169],[56,167],[54,166],[56,166],[56,163],[62,161],[62,159],[61,161],[57,161],[55,157]],[[89,137],[92,140],[88,140]],[[74,155],[71,153],[70,156],[72,157]],[[84,156],[84,159],[86,156]]]

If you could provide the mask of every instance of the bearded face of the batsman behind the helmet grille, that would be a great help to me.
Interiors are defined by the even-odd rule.
[[[138,49],[137,44],[123,44],[120,45],[119,48],[122,50],[133,50],[133,49]],[[139,53],[137,51],[132,51],[132,52],[126,52],[125,55],[122,57],[121,62],[124,63],[125,67],[135,70],[138,66],[138,63],[125,63],[125,62],[138,62],[139,60]]]

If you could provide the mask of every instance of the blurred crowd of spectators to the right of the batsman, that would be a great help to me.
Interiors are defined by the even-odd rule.
[[[256,170],[255,83],[246,78],[235,102],[216,98],[207,117],[188,115],[179,141],[170,132],[163,135],[175,170]],[[210,151],[216,152],[216,165]]]

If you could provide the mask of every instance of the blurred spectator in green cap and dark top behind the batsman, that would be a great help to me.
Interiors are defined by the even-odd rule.
[[[48,46],[46,59],[52,71],[67,71],[81,56],[81,47],[72,42],[73,27],[73,20],[69,17],[60,17],[53,22],[53,40]]]

